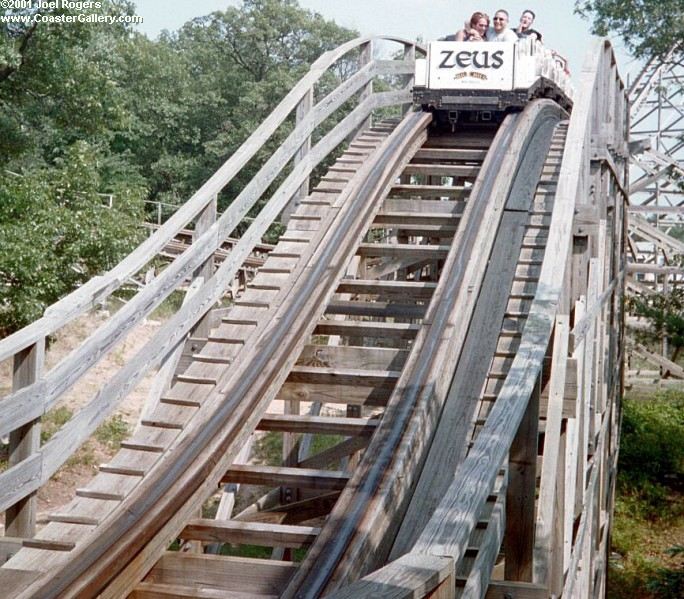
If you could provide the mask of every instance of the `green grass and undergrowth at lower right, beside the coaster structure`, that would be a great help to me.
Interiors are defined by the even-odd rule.
[[[684,394],[626,397],[607,597],[684,596],[683,533]]]

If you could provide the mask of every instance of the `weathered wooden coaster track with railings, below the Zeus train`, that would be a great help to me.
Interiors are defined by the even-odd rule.
[[[403,60],[373,59],[370,39],[323,55],[152,237],[0,342],[15,364],[0,401],[11,442],[3,596],[602,596],[627,201],[628,112],[612,49],[601,40],[588,52],[572,114],[536,100],[499,126],[446,134],[406,110],[422,49],[394,41]],[[357,71],[318,97],[320,78],[349,56]],[[394,87],[376,92],[378,77]],[[386,106],[405,116],[371,125]],[[216,220],[217,194],[291,113],[294,130]],[[293,197],[254,279],[217,307]],[[44,371],[45,338],[193,221],[193,243]],[[41,415],[188,278],[178,312],[41,445]],[[135,432],[35,534],[36,491],[154,369],[159,393]],[[282,435],[282,465],[250,462],[258,431]],[[314,436],[331,435],[311,451]],[[267,492],[236,513],[243,485]],[[217,492],[216,518],[202,517]],[[177,539],[187,550],[169,549]],[[273,548],[272,559],[221,555],[221,544]]]

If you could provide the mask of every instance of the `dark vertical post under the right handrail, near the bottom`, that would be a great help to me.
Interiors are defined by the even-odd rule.
[[[540,393],[541,375],[508,455],[504,537],[506,580],[532,582]]]

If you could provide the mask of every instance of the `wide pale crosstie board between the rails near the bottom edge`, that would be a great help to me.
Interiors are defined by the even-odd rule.
[[[292,562],[276,560],[166,552],[145,582],[272,595],[277,594],[296,568]]]

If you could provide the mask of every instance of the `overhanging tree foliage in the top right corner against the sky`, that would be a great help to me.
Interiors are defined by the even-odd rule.
[[[639,57],[660,56],[684,40],[682,0],[576,0],[575,8],[592,19],[594,33],[617,33]]]

